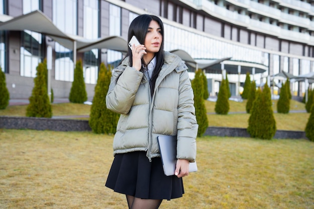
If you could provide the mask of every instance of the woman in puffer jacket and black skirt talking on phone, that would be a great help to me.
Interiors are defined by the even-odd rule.
[[[114,70],[106,96],[107,108],[121,114],[106,186],[125,194],[129,208],[158,208],[163,199],[182,196],[182,177],[196,158],[194,95],[187,66],[164,51],[158,17],[135,18],[128,41],[132,36],[141,44],[133,45]],[[160,135],[178,136],[176,175],[164,174]]]

